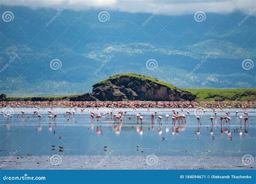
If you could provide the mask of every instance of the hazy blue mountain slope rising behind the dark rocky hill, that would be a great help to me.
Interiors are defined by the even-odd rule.
[[[53,9],[0,10],[15,16],[0,21],[0,91],[7,95],[80,94],[117,73],[150,75],[181,88],[256,87],[255,67],[242,68],[243,60],[256,59],[256,19],[238,26],[246,16],[240,12],[207,13],[200,23],[193,15],[156,15],[143,26],[151,14],[108,11],[109,21],[100,22],[100,10],[65,9],[57,18]],[[51,69],[53,59],[61,68]],[[149,59],[156,69],[147,69]]]

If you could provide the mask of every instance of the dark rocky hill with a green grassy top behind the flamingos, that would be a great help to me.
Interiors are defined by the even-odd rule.
[[[118,74],[94,84],[92,93],[70,97],[70,101],[194,101],[196,97],[149,76]]]

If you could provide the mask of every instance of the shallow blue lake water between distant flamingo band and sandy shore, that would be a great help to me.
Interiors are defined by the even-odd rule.
[[[20,111],[25,111],[25,116],[21,117]],[[241,109],[218,109],[217,118],[213,120],[211,128],[210,116],[214,117],[211,109],[201,114],[201,127],[198,125],[194,109],[190,109],[190,116],[187,116],[186,123],[178,123],[175,128],[172,125],[171,109],[124,109],[127,115],[123,122],[115,122],[105,115],[97,122],[91,122],[90,112],[96,114],[112,109],[79,109],[75,115],[64,117],[63,113],[68,108],[55,108],[52,112],[57,112],[56,121],[51,123],[48,118],[48,110],[37,109],[42,120],[33,117],[35,108],[15,108],[11,119],[0,118],[0,156],[15,155],[168,155],[168,156],[219,156],[219,157],[240,157],[245,154],[256,155],[256,110],[247,109],[250,119],[248,125],[244,126],[244,121],[240,123],[238,115],[243,115]],[[72,111],[73,109],[71,109]],[[120,109],[115,109],[113,114],[117,114]],[[176,109],[183,114],[180,109]],[[152,112],[157,111],[157,116],[163,116],[163,125],[159,125],[157,119],[154,124],[151,122]],[[232,118],[230,125],[220,125],[219,117],[225,116],[225,111],[230,112]],[[138,112],[144,117],[143,124],[137,123],[135,117]],[[170,118],[165,122],[165,114]],[[68,121],[69,118],[69,121]],[[129,119],[130,118],[130,119]],[[168,131],[169,129],[169,131]],[[223,130],[223,135],[220,131]],[[196,131],[200,131],[198,134]],[[211,134],[212,130],[212,134]],[[231,135],[227,135],[227,131]],[[239,135],[239,132],[242,135]],[[55,145],[55,147],[52,147]],[[138,146],[137,146],[138,145]],[[58,146],[64,148],[59,149]],[[107,146],[104,150],[104,146]],[[53,150],[52,150],[53,148]]]

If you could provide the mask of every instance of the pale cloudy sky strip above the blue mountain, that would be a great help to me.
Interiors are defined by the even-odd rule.
[[[213,13],[248,13],[256,8],[255,0],[0,0],[0,5],[29,6],[32,9],[62,8],[73,10],[105,9],[125,12],[152,13],[156,10],[164,15],[185,15],[197,11]]]

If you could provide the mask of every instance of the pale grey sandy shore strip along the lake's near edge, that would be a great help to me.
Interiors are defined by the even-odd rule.
[[[254,158],[255,160],[256,158]],[[6,161],[7,160],[7,161]],[[168,157],[147,161],[146,156],[63,156],[53,166],[49,156],[1,157],[1,169],[256,169],[256,163],[242,164],[240,157]],[[58,161],[59,162],[59,161]],[[153,164],[153,165],[149,165]]]

